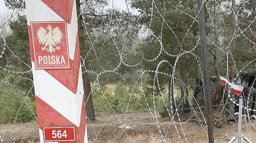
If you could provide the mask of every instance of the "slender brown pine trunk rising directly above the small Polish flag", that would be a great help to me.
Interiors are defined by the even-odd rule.
[[[235,35],[235,0],[232,0],[232,8],[234,12],[232,12],[232,25],[233,25],[233,30],[232,30],[232,36]],[[234,54],[235,52],[235,39],[231,43],[231,52]],[[235,78],[235,65],[234,61],[231,61],[231,79]]]

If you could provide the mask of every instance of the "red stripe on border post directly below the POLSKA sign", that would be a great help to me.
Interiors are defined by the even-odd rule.
[[[70,59],[70,69],[45,69],[47,73],[52,75],[56,80],[61,82],[75,94],[77,93],[78,75],[81,61],[78,33],[76,40],[77,42],[74,60]]]

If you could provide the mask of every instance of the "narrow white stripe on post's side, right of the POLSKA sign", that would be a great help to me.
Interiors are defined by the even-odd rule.
[[[76,8],[76,2],[74,1],[71,22],[70,24],[67,23],[69,58],[71,60],[74,60],[76,42],[77,42],[77,32],[78,32],[77,8]]]

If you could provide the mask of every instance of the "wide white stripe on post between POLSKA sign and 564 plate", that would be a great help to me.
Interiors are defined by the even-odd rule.
[[[84,96],[81,66],[77,94],[74,94],[45,70],[35,70],[35,63],[31,62],[35,95],[79,127]]]

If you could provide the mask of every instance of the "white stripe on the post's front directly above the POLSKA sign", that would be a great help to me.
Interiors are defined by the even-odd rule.
[[[25,4],[26,11],[29,11],[27,12],[27,21],[29,26],[30,21],[64,21],[41,0],[25,0]]]

